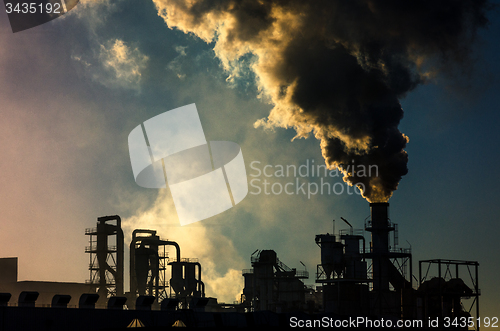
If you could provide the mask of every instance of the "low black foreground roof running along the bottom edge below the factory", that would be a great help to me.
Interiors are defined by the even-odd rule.
[[[0,330],[129,330],[138,325],[142,330],[165,330],[177,325],[188,328],[258,329],[341,328],[346,330],[397,330],[396,321],[372,317],[336,316],[328,313],[307,314],[256,311],[247,313],[213,313],[191,309],[176,311],[113,310],[89,308],[0,307]],[[390,326],[391,325],[391,326]],[[135,326],[134,326],[135,327]],[[437,330],[408,327],[405,330]]]

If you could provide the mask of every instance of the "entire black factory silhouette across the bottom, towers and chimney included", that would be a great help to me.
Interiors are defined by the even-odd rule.
[[[287,327],[299,320],[333,326],[361,317],[385,319],[394,328],[396,321],[406,322],[406,329],[419,330],[437,320],[432,329],[439,330],[445,318],[479,317],[477,262],[423,260],[415,272],[411,248],[399,247],[388,203],[370,203],[364,229],[342,221],[345,228],[337,233],[334,222],[332,233],[316,235],[321,256],[316,286],[305,285],[311,276],[305,265],[291,268],[274,250],[257,249],[251,268],[242,270],[240,300],[221,303],[205,295],[203,261],[183,257],[175,241],[162,240],[152,229],[132,233],[125,292],[121,219],[99,217],[95,228],[85,230],[90,273],[85,283],[18,281],[17,258],[0,259],[0,331]],[[175,256],[169,256],[168,246]],[[449,328],[468,330],[461,324]]]

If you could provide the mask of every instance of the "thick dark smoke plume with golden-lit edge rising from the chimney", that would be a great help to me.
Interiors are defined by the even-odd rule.
[[[326,164],[371,202],[387,201],[408,172],[399,99],[469,62],[491,6],[486,0],[153,1],[170,28],[215,43],[229,79],[249,63],[260,97],[273,105],[255,126],[314,135]]]

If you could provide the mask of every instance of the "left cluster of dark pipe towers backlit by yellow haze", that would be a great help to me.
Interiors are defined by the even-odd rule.
[[[134,308],[136,300],[148,298],[154,308],[160,302],[176,302],[188,307],[193,298],[205,297],[201,281],[201,264],[196,259],[181,258],[181,249],[175,241],[161,240],[156,230],[136,229],[130,242],[130,291],[124,292],[124,237],[118,215],[99,217],[97,227],[86,229],[90,255],[92,292],[99,294],[99,303],[118,297],[127,308]],[[173,246],[175,258],[170,258],[166,247]],[[167,268],[170,267],[170,280]],[[142,300],[142,299],[141,299]],[[171,303],[172,304],[172,303]]]

